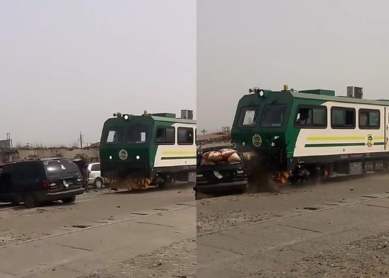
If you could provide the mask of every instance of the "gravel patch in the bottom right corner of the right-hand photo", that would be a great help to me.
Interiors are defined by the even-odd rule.
[[[274,272],[258,271],[251,277],[389,277],[389,231],[355,240],[295,261]]]

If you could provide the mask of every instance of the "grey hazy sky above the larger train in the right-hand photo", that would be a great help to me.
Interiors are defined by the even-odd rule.
[[[249,88],[389,98],[389,2],[198,0],[198,129],[231,126]]]

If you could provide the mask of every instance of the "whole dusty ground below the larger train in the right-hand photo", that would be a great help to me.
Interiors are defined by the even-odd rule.
[[[200,200],[197,277],[389,277],[389,252],[370,247],[389,246],[388,190],[374,174]]]

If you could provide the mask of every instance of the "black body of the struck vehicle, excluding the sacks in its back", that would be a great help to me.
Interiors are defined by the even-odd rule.
[[[240,156],[239,163],[201,165],[201,157],[206,152],[233,149]],[[197,149],[196,193],[226,193],[227,191],[247,191],[247,174],[242,154],[231,145],[217,145]]]

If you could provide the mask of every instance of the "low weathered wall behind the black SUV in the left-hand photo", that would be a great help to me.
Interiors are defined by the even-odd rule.
[[[65,158],[74,158],[77,154],[86,154],[91,161],[99,161],[99,148],[90,149],[18,149],[19,158],[27,158],[28,156],[62,156]]]

